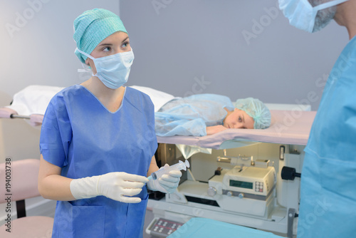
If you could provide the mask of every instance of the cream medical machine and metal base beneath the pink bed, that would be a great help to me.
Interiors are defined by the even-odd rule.
[[[283,160],[281,146],[286,148]],[[300,180],[283,180],[281,170],[288,166],[300,172],[303,153],[295,149],[302,152],[303,146],[256,143],[192,155],[177,191],[162,198],[152,196],[147,207],[154,217],[175,222],[205,217],[292,237]],[[170,150],[164,151],[170,155]],[[165,162],[176,163],[180,157],[176,152],[176,158]]]

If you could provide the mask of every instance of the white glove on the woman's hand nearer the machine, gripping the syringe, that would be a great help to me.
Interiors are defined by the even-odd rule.
[[[169,167],[169,165],[165,164],[164,167]],[[182,177],[182,172],[172,170],[167,175],[157,178],[157,180],[150,180],[147,183],[147,188],[152,191],[173,193],[177,190],[180,177]]]

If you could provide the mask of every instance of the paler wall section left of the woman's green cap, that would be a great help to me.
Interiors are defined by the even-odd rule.
[[[0,0],[0,105],[31,84],[66,87],[85,80],[77,72],[73,21],[94,8],[119,14],[119,1]]]

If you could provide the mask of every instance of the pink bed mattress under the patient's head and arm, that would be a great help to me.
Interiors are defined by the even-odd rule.
[[[271,110],[271,126],[267,129],[227,129],[202,137],[157,137],[158,143],[194,145],[201,148],[236,148],[239,143],[278,143],[306,145],[315,111]]]

